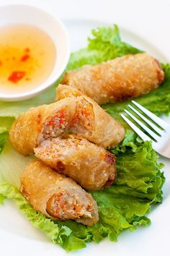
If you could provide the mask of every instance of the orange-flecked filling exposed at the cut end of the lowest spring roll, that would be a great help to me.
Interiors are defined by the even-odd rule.
[[[91,205],[83,204],[79,197],[63,191],[54,194],[47,202],[47,212],[50,216],[61,219],[73,219],[84,216],[91,218]]]

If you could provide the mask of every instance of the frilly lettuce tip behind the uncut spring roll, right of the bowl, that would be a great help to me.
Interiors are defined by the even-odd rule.
[[[98,27],[91,32],[87,48],[71,54],[66,70],[79,69],[86,64],[99,64],[102,61],[115,59],[125,54],[139,54],[139,49],[122,42],[117,25],[114,27]]]

